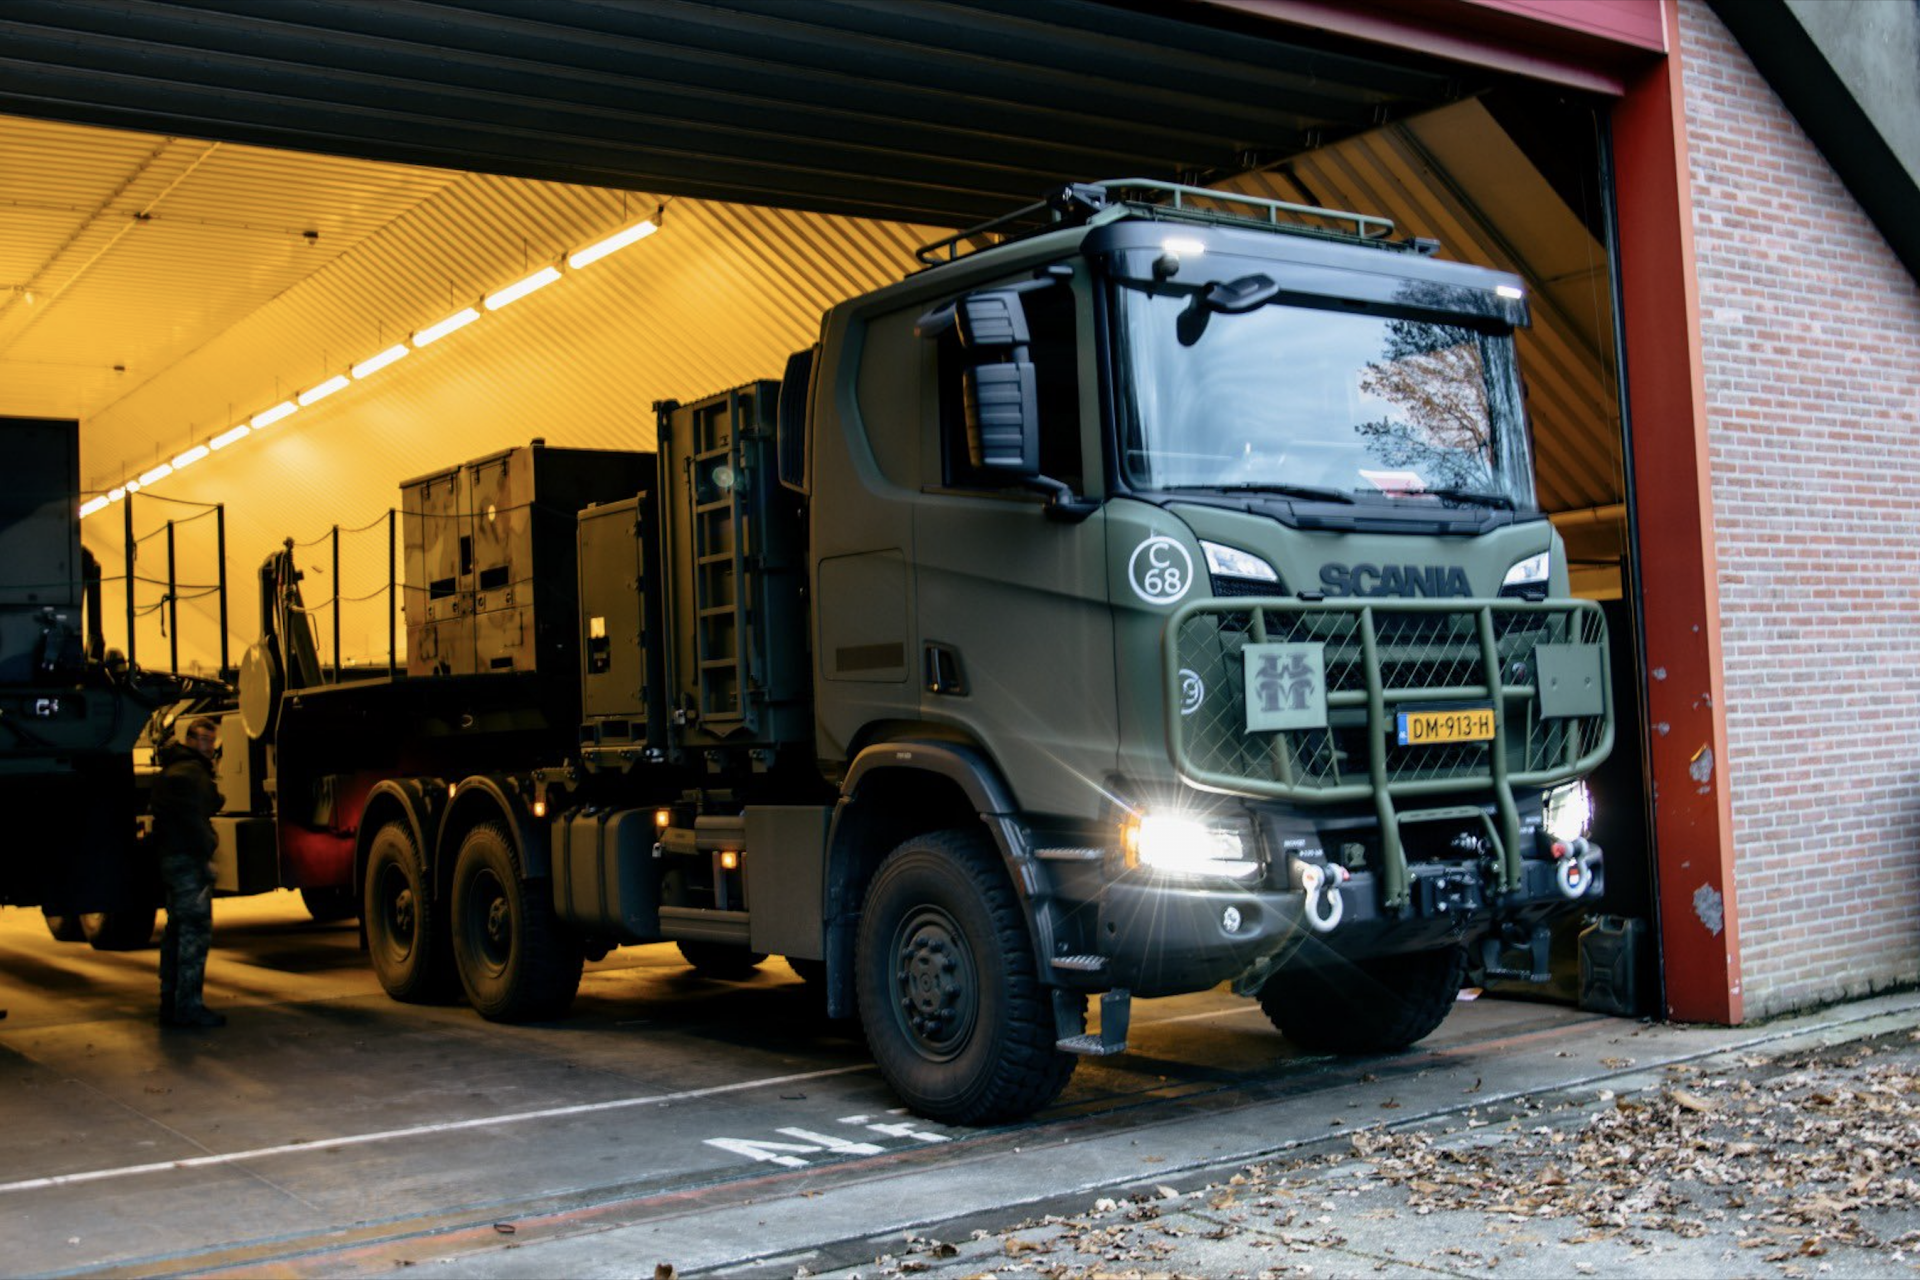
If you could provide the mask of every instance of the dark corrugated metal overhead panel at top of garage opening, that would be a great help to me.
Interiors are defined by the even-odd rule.
[[[948,225],[1236,173],[1488,79],[1144,0],[0,6],[0,111]]]

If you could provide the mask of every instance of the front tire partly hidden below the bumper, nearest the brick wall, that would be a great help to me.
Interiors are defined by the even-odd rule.
[[[1467,950],[1336,961],[1275,973],[1260,1007],[1283,1036],[1315,1054],[1392,1054],[1430,1036],[1467,979]]]

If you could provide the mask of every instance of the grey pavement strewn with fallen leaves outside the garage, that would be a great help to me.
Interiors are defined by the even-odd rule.
[[[1920,1272],[1920,1061],[1912,1044],[1920,1032],[1901,1040],[1893,1054],[1880,1042],[1749,1055],[1732,1069],[1668,1067],[1663,1088],[1632,1098],[1603,1092],[1597,1111],[1588,1102],[1519,1100],[1500,1123],[1469,1111],[1465,1130],[1365,1128],[1352,1134],[1350,1151],[1254,1165],[1187,1194],[1158,1186],[1102,1197],[1085,1215],[977,1230],[968,1245],[908,1234],[899,1253],[874,1261],[887,1276],[1162,1280],[1200,1274],[1187,1242],[1238,1240],[1271,1257],[1248,1274],[1313,1276],[1298,1255],[1348,1244],[1338,1230],[1346,1215],[1334,1215],[1327,1197],[1361,1192],[1331,1192],[1300,1174],[1346,1167],[1357,1174],[1350,1188],[1400,1188],[1407,1215],[1480,1213],[1496,1236],[1557,1222],[1551,1234],[1565,1245],[1617,1242],[1628,1257],[1644,1257],[1659,1251],[1651,1236],[1711,1234],[1728,1245],[1722,1265],[1741,1270],[1772,1263],[1782,1276],[1814,1276],[1830,1270],[1822,1259],[1834,1249],[1872,1249],[1912,1274]],[[1530,1123],[1549,1115],[1559,1123]],[[1461,1245],[1440,1253],[1450,1270],[1494,1270],[1501,1261]]]

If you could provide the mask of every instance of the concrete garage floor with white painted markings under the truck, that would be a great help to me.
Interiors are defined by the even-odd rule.
[[[899,1113],[856,1029],[822,1021],[780,961],[718,983],[670,946],[628,948],[588,967],[566,1021],[497,1027],[461,1006],[390,1002],[355,925],[315,925],[294,894],[271,894],[215,906],[207,1000],[232,1023],[163,1032],[156,960],[58,944],[38,912],[0,910],[0,1004],[12,1009],[0,1023],[0,1270],[342,1274],[451,1251],[476,1272],[516,1274],[532,1255],[476,1251],[520,1244],[520,1230],[532,1244],[662,1217],[726,1265],[766,1253],[764,1219],[741,1219],[743,1205],[783,1196],[806,1215],[814,1180],[870,1188],[849,1201],[864,1205],[852,1221],[814,1215],[824,1236],[866,1236],[885,1224],[876,1213],[952,1217],[1102,1171],[1139,1176],[1137,1161],[1194,1165],[1283,1140],[1265,1119],[1244,1128],[1248,1107],[1298,1100],[1288,1109],[1323,1134],[1327,1090],[1361,1079],[1298,1055],[1252,1002],[1208,992],[1139,1002],[1133,1052],[1083,1061],[1037,1121],[948,1130]],[[1478,1000],[1365,1079],[1392,1088],[1438,1067],[1455,1092],[1461,1075],[1496,1094],[1592,1067],[1565,1061],[1565,1044],[1594,1042],[1582,1057],[1599,1059],[1630,1034],[1638,1025]],[[1018,1184],[966,1174],[1044,1148],[1062,1159],[1021,1165]],[[1108,1169],[1116,1151],[1125,1169]],[[916,1203],[872,1190],[895,1174]],[[929,1188],[950,1188],[950,1203]],[[703,1236],[708,1209],[732,1215],[732,1226],[714,1219],[730,1244]],[[630,1261],[609,1274],[651,1270]]]

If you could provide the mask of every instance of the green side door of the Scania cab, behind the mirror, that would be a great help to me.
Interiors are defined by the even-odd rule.
[[[1085,278],[1021,296],[1041,405],[1041,470],[1100,491],[1098,395]],[[970,464],[964,351],[937,340],[925,487],[914,514],[925,720],[998,760],[1021,808],[1092,816],[1114,770],[1106,516],[1050,520],[1046,499]]]

